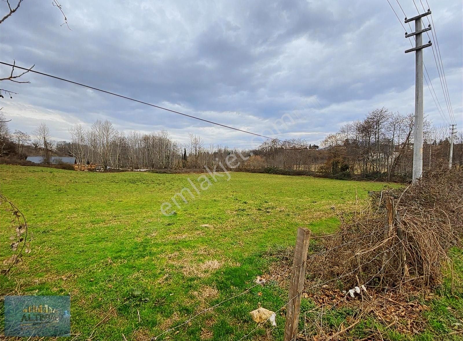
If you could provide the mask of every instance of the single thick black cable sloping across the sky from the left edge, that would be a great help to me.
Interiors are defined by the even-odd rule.
[[[127,97],[127,96],[124,96],[124,95],[120,95],[120,94],[115,93],[115,92],[111,92],[111,91],[99,89],[99,88],[94,87],[94,86],[91,86],[91,85],[86,85],[86,84],[82,84],[82,83],[75,82],[75,81],[73,81],[73,80],[69,80],[69,79],[65,79],[65,78],[53,76],[53,75],[51,75],[51,74],[49,74],[49,73],[43,73],[43,72],[31,70],[31,69],[26,69],[25,67],[19,67],[19,66],[17,66],[17,65],[9,64],[9,63],[3,62],[3,61],[0,61],[0,64],[7,65],[7,66],[10,66],[10,67],[16,67],[16,68],[22,69],[22,70],[27,70],[28,72],[37,73],[37,74],[40,74],[40,75],[42,75],[42,76],[47,76],[47,77],[50,77],[50,78],[62,80],[62,81],[64,81],[64,82],[68,82],[68,83],[71,83],[71,84],[80,85],[80,86],[83,86],[83,87],[88,88],[88,89],[92,89],[92,90],[104,92],[104,93],[107,93],[107,94],[109,94],[109,95],[113,95],[113,96],[120,97],[120,98],[125,98],[125,99],[128,99],[128,100],[133,101],[133,102],[137,102],[137,103],[149,105],[149,106],[154,107],[154,108],[158,108],[158,109],[170,111],[170,112],[175,113],[175,114],[178,114],[178,115],[190,117],[190,118],[193,118],[193,119],[195,119],[195,120],[202,121],[202,122],[207,122],[207,123],[215,124],[215,125],[220,126],[220,127],[224,127],[224,128],[236,130],[236,131],[239,131],[239,132],[242,132],[242,133],[246,133],[246,134],[251,134],[251,135],[259,136],[259,137],[263,137],[263,138],[270,139],[270,140],[274,140],[274,141],[278,141],[278,142],[290,143],[290,144],[292,144],[292,145],[294,145],[294,146],[301,146],[301,147],[307,147],[307,148],[308,148],[307,145],[302,145],[302,144],[299,144],[299,143],[290,142],[290,141],[286,141],[286,140],[280,140],[280,139],[276,139],[276,138],[269,137],[269,136],[266,136],[266,135],[261,135],[261,134],[253,133],[253,132],[250,132],[250,131],[247,131],[247,130],[243,130],[243,129],[239,129],[239,128],[234,128],[234,127],[231,127],[231,126],[227,126],[227,125],[225,125],[225,124],[222,124],[222,123],[209,121],[209,120],[206,120],[206,119],[204,119],[204,118],[200,118],[200,117],[197,117],[197,116],[193,116],[193,115],[188,115],[188,114],[182,113],[182,112],[180,112],[180,111],[176,111],[176,110],[164,108],[164,107],[161,107],[161,106],[156,105],[156,104],[151,104],[151,103],[148,103],[148,102],[140,101],[139,99],[135,99],[135,98],[132,98],[132,97]],[[323,149],[319,149],[319,150],[323,150]],[[324,151],[324,152],[327,152],[327,151],[325,151],[325,150],[323,150],[323,151]]]

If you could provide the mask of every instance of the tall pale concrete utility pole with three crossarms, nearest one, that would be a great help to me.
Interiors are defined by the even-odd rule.
[[[423,32],[431,30],[431,24],[423,29],[421,26],[421,18],[426,15],[431,14],[431,10],[428,9],[427,12],[419,14],[416,17],[407,19],[405,18],[405,23],[410,21],[415,22],[415,31],[407,34],[405,32],[405,37],[415,36],[415,47],[413,49],[408,49],[405,53],[415,51],[415,127],[413,135],[413,182],[418,181],[423,173],[423,49],[432,45],[431,41],[429,43],[422,45],[423,39],[421,34]]]

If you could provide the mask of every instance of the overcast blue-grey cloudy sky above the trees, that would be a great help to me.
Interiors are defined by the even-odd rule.
[[[428,1],[461,129],[462,1]],[[62,0],[72,30],[50,3],[24,0],[1,24],[1,61],[259,134],[276,133],[272,123],[289,114],[294,122],[275,137],[310,143],[375,108],[414,110],[415,58],[404,53],[410,43],[387,0]],[[409,18],[417,14],[412,0],[400,4]],[[449,120],[432,52],[424,50],[424,61]],[[32,73],[23,80],[31,84],[0,84],[19,92],[0,105],[11,130],[32,133],[44,121],[53,138],[67,140],[71,125],[101,118],[126,131],[164,128],[181,142],[191,132],[206,145],[251,143],[251,135],[77,85]],[[447,125],[424,87],[425,115]]]

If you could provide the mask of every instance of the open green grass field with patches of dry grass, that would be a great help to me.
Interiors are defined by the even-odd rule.
[[[231,173],[200,195],[198,174],[91,173],[0,165],[0,192],[25,214],[31,254],[0,277],[0,293],[71,295],[76,340],[149,340],[243,292],[269,267],[263,252],[294,244],[298,226],[336,229],[332,207],[348,209],[384,183]],[[164,216],[182,188],[195,198]],[[4,207],[3,207],[4,208]],[[10,255],[10,217],[0,217],[0,259]],[[239,340],[256,327],[249,311],[278,309],[276,283],[200,315],[169,340]],[[281,339],[284,318],[269,332]],[[270,330],[268,328],[267,330]],[[266,335],[258,329],[253,335]],[[163,337],[159,339],[163,339]]]

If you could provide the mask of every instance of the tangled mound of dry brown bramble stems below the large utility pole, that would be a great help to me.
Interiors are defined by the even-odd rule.
[[[426,174],[416,185],[375,194],[366,209],[341,215],[339,231],[309,256],[310,282],[384,291],[440,284],[450,264],[447,251],[463,234],[462,173]]]

